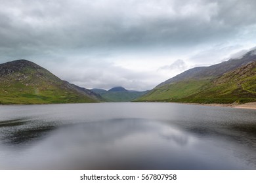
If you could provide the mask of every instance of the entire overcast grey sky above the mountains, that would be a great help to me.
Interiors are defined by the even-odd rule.
[[[255,0],[0,0],[0,63],[85,88],[151,90],[256,46]]]

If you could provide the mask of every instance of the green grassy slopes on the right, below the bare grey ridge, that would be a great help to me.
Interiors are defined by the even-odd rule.
[[[256,61],[224,75],[180,80],[154,88],[135,101],[248,103],[256,101]]]

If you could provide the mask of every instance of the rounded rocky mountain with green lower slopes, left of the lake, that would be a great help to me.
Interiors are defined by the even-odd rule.
[[[100,95],[25,59],[0,64],[1,104],[92,103]]]

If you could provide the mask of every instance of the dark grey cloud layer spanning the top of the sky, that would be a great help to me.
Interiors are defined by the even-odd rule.
[[[255,24],[256,16],[249,0],[29,2],[1,2],[4,45],[38,46],[42,51],[189,46],[227,39]]]

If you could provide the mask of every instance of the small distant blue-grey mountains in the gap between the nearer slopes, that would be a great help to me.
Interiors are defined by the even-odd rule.
[[[133,101],[137,97],[144,95],[146,92],[138,92],[133,90],[126,90],[125,88],[118,86],[111,88],[110,90],[103,90],[103,89],[92,89],[93,92],[98,93],[104,101],[108,102],[128,102]]]

